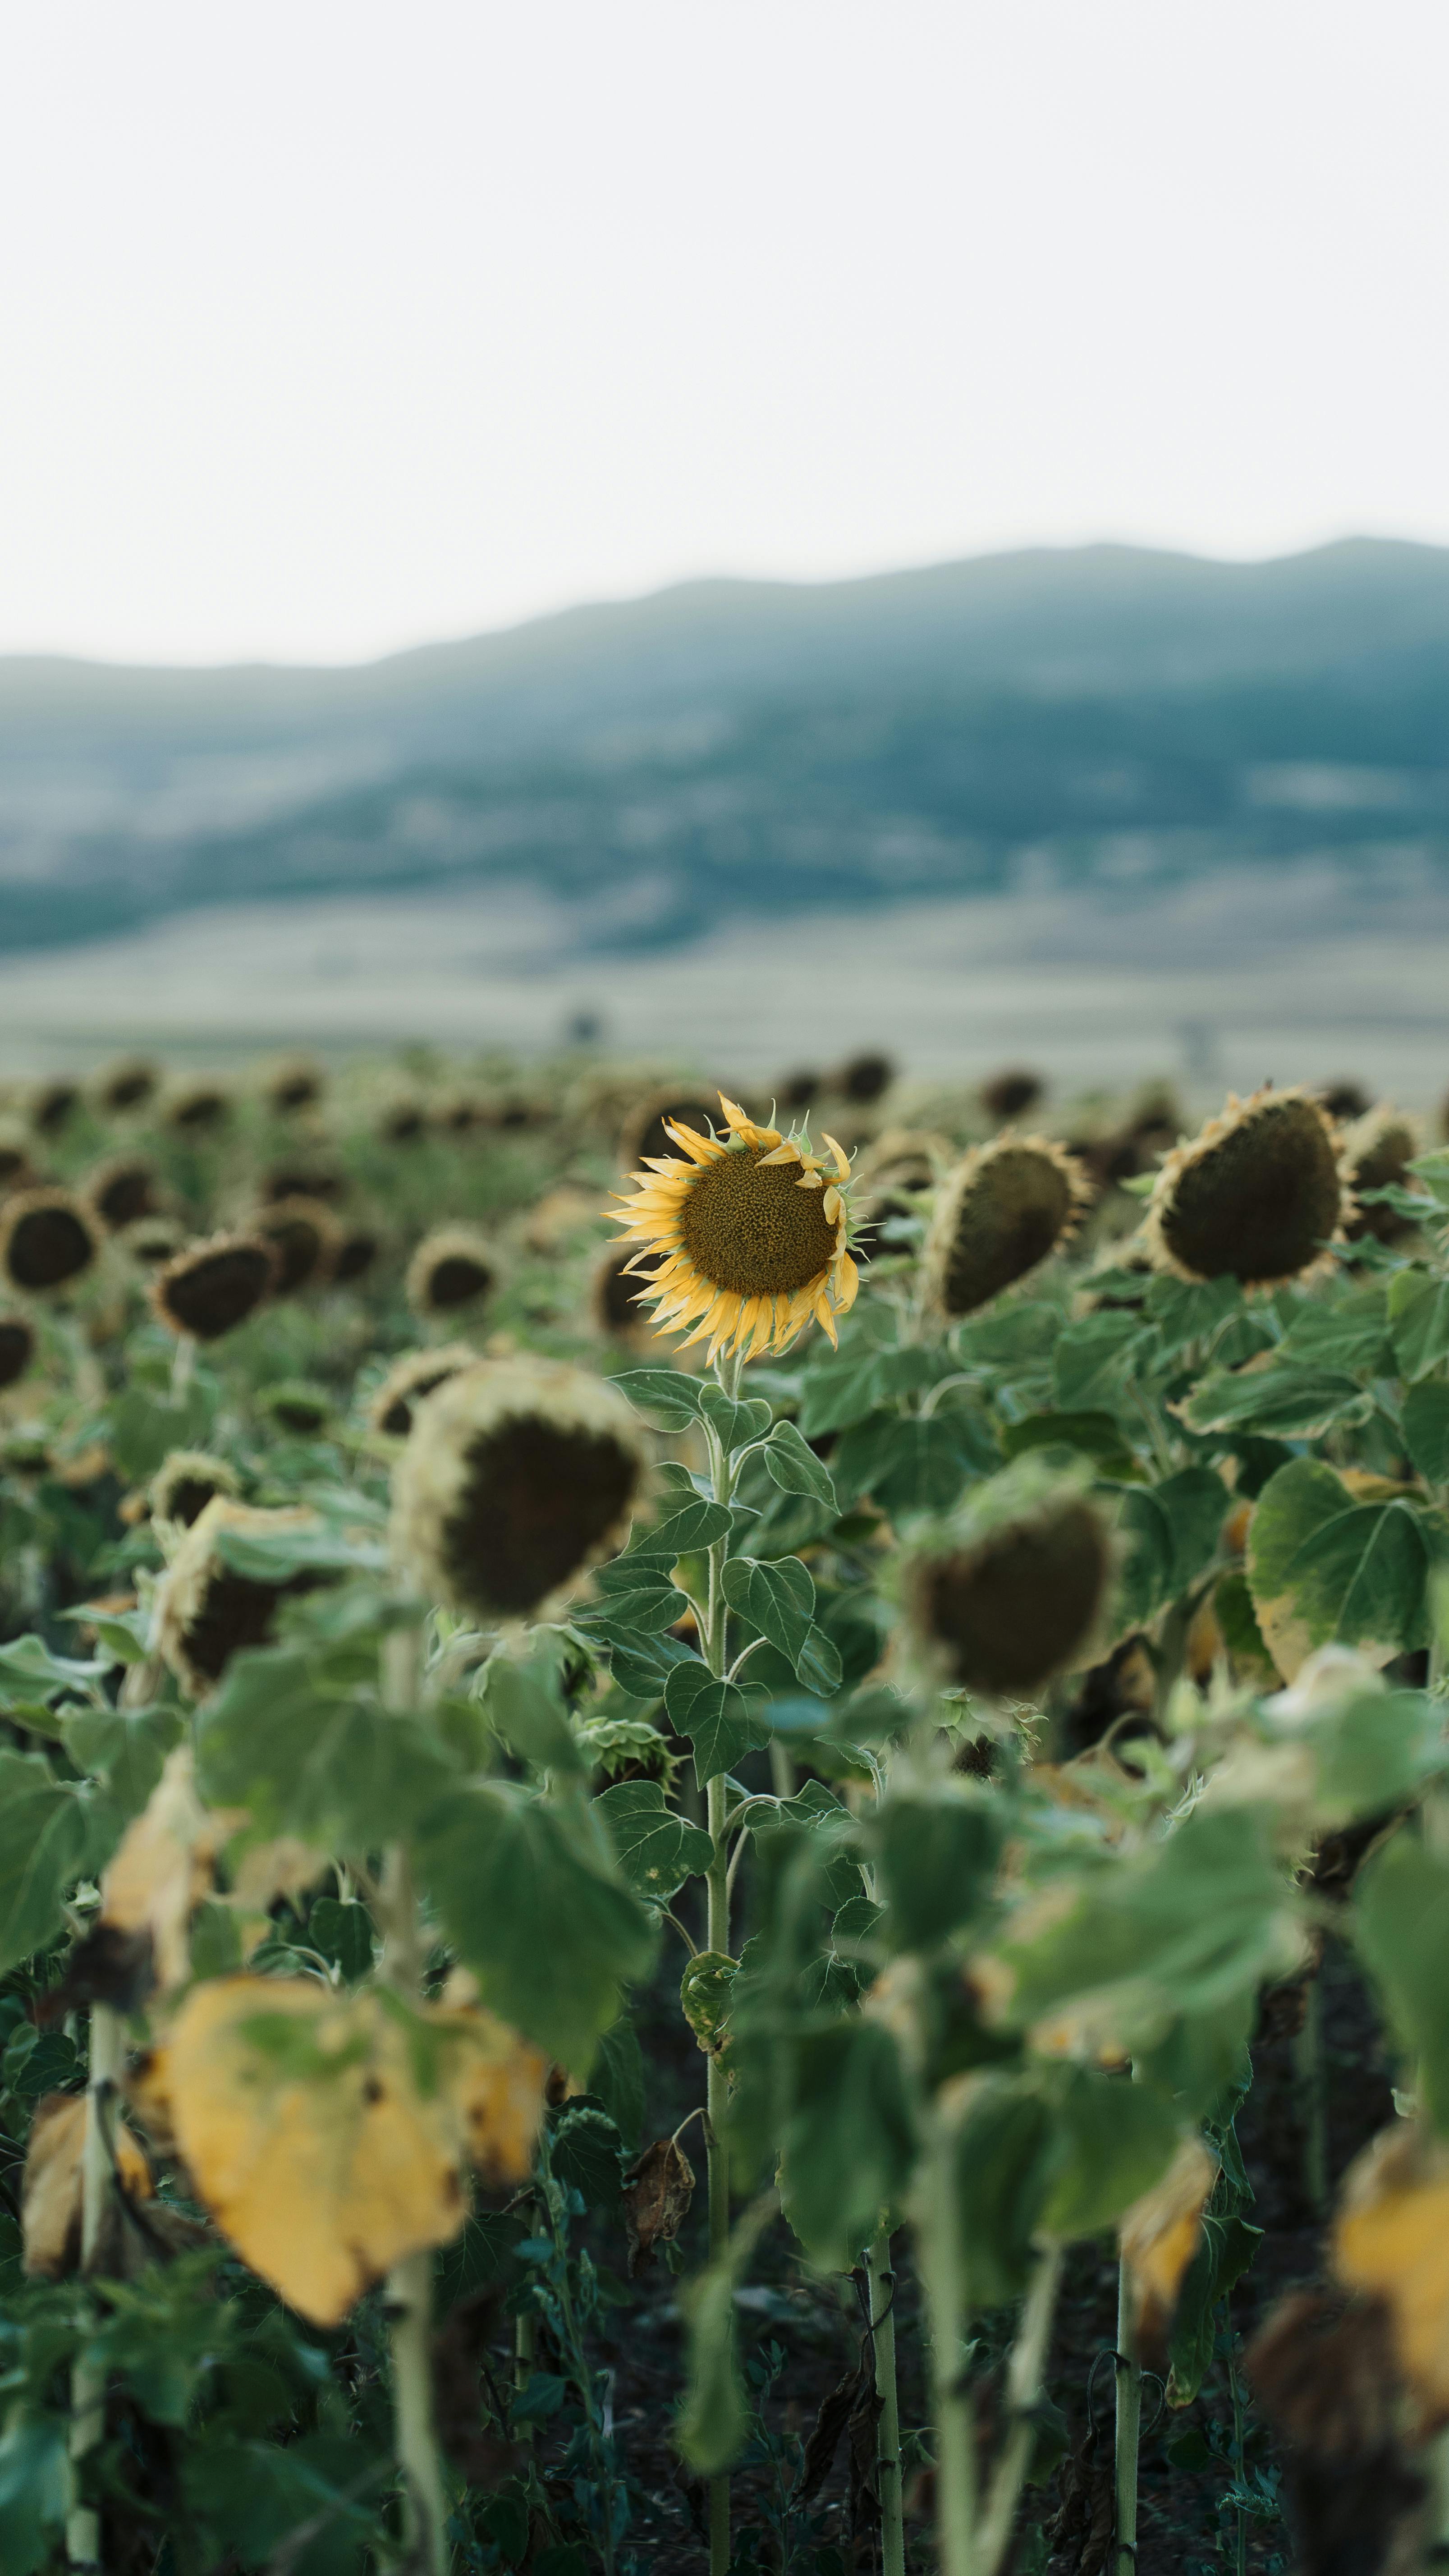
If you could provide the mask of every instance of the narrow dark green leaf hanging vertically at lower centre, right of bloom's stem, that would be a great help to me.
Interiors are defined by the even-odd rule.
[[[806,2032],[782,2136],[780,2200],[821,2272],[849,2272],[896,2208],[916,2133],[893,2035],[857,2014]]]

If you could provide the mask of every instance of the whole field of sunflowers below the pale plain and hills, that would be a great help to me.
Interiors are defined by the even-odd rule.
[[[1449,1151],[0,1103],[0,2576],[1449,2548]]]

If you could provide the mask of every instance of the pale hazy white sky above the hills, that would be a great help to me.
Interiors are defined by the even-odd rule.
[[[1449,541],[1444,0],[10,0],[0,649]]]

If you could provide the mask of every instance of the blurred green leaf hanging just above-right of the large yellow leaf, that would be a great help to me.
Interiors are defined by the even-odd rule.
[[[414,1860],[484,2002],[564,2066],[587,2066],[620,1986],[654,1955],[649,1911],[592,1837],[540,1798],[474,1780],[422,1819]]]

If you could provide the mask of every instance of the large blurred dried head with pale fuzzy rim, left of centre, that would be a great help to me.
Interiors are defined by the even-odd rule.
[[[479,1360],[420,1406],[394,1473],[394,1551],[420,1592],[474,1618],[540,1618],[618,1556],[643,1432],[561,1360]]]

